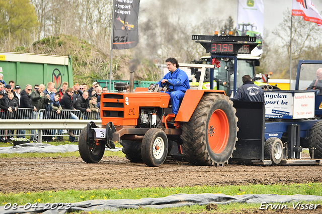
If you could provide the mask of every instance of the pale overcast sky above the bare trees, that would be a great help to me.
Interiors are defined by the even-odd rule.
[[[205,17],[210,16],[218,17],[218,19],[231,16],[236,25],[237,2],[237,0],[181,0],[179,6],[170,4],[169,7],[178,7],[182,18],[191,22],[199,23]],[[292,0],[263,0],[263,3],[264,29],[269,31],[272,31],[283,20],[284,11],[292,9]],[[319,12],[322,11],[322,0],[312,0],[312,3]],[[140,0],[140,10],[145,7],[153,8],[153,4],[155,4],[155,1]]]

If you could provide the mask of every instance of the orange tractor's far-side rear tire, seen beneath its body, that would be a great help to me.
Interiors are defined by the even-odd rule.
[[[122,152],[125,154],[126,159],[132,163],[143,162],[141,155],[141,141],[122,140],[120,144],[123,146]]]

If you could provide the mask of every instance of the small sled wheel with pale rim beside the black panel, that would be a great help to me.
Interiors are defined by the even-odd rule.
[[[273,165],[277,165],[283,159],[283,143],[279,138],[269,138],[265,142],[264,154],[271,155]]]

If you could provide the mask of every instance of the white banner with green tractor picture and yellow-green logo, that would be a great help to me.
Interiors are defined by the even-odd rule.
[[[263,0],[238,0],[237,36],[256,36],[256,42],[262,44],[264,32]],[[263,53],[262,45],[258,45],[251,55]]]

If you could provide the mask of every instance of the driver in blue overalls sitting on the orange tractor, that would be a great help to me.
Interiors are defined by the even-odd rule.
[[[170,86],[170,89],[166,93],[170,95],[172,112],[177,115],[183,96],[186,90],[190,88],[189,78],[183,70],[179,69],[177,59],[170,57],[166,60],[166,63],[169,72],[157,84],[161,86],[161,83],[170,82],[174,85],[173,90],[171,90],[172,87]]]

